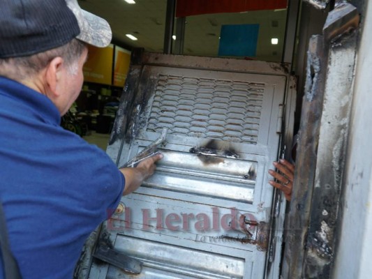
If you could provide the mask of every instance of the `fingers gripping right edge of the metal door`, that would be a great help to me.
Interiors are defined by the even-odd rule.
[[[278,172],[269,169],[269,174],[277,181],[269,180],[269,183],[271,186],[283,191],[285,199],[290,201],[292,196],[293,179],[295,175],[295,165],[292,165],[284,159],[279,160],[279,162],[274,162],[273,165],[276,167],[276,169],[278,169]]]

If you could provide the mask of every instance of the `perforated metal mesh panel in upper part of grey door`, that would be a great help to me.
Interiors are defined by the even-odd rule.
[[[256,144],[265,84],[159,75],[147,131]]]

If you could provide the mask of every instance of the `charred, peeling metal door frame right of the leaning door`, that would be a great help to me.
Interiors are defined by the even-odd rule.
[[[310,1],[311,2],[311,1]],[[352,100],[359,15],[335,6],[308,48],[282,278],[331,278]]]

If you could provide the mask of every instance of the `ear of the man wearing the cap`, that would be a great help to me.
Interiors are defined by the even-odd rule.
[[[59,92],[59,82],[61,82],[61,78],[63,75],[64,69],[64,59],[62,57],[54,57],[52,61],[50,61],[47,65],[45,70],[45,79],[47,84],[47,91],[52,93],[54,97],[57,97],[61,94]]]

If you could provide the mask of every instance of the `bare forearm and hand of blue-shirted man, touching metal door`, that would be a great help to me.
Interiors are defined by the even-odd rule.
[[[156,154],[140,162],[137,167],[124,167],[119,169],[126,179],[123,195],[128,195],[137,190],[144,180],[154,174],[156,169],[155,163],[161,160],[161,158],[163,158],[162,154]]]

